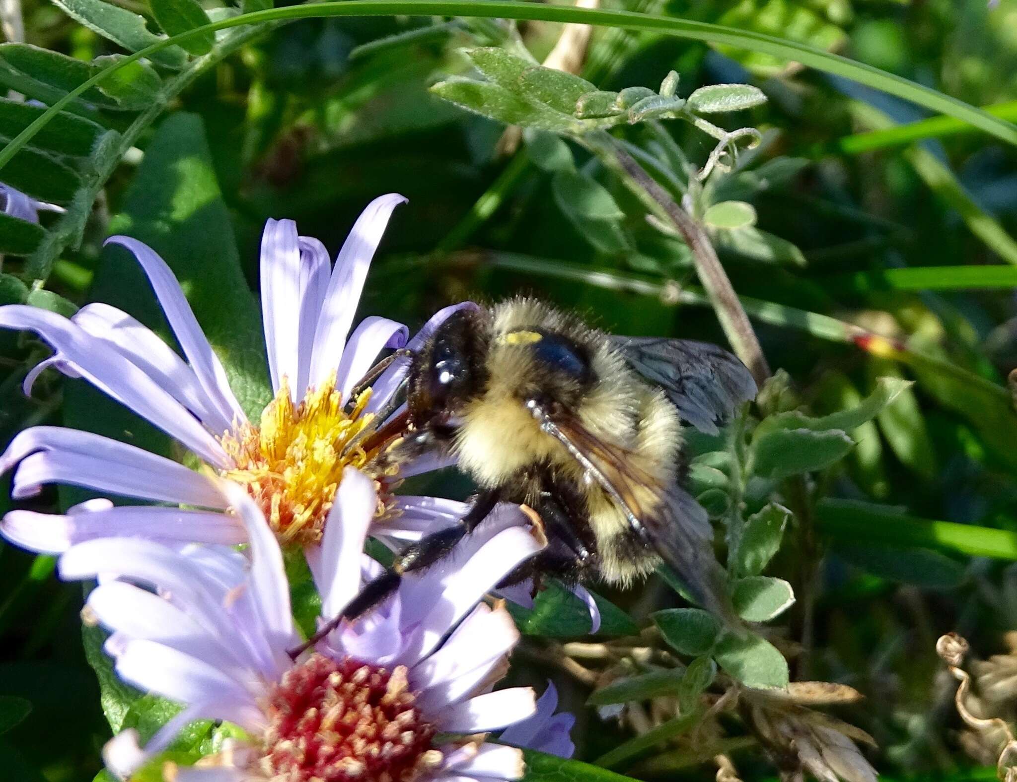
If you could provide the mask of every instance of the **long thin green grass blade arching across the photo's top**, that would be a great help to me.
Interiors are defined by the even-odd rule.
[[[116,64],[100,71],[87,81],[72,89],[67,95],[53,104],[35,122],[21,131],[2,151],[0,168],[21,149],[27,141],[45,126],[64,106],[88,88],[101,83],[112,72],[128,66],[170,46],[180,45],[208,32],[244,24],[270,21],[304,19],[326,16],[388,16],[396,14],[418,16],[477,16],[484,18],[532,19],[540,21],[573,22],[609,27],[647,30],[674,36],[692,41],[744,49],[773,55],[783,60],[798,62],[811,68],[852,79],[875,89],[881,89],[905,101],[910,101],[926,109],[946,114],[980,128],[1010,144],[1017,145],[1017,126],[973,106],[943,94],[931,87],[908,81],[864,63],[849,60],[804,44],[784,41],[752,30],[736,29],[719,24],[675,19],[657,14],[635,13],[571,6],[542,5],[518,0],[342,0],[341,2],[315,3],[311,5],[268,8],[262,11],[240,14],[221,19],[212,24],[187,30],[151,47],[128,55]]]

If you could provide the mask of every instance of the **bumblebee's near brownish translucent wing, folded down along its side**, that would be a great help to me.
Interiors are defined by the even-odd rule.
[[[574,415],[530,405],[541,428],[560,442],[624,512],[630,526],[689,587],[694,600],[734,625],[724,569],[713,553],[706,511],[677,483],[661,485]]]

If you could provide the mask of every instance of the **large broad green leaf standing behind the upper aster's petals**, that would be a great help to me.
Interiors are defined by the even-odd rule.
[[[196,115],[178,113],[163,122],[110,233],[144,242],[170,265],[226,368],[230,387],[256,420],[271,398],[260,314],[240,267],[230,212]],[[143,299],[149,317],[158,317],[151,286],[133,258],[117,247],[107,248],[105,255],[116,260],[108,262],[109,271],[103,270],[104,281],[97,284],[108,295],[116,289],[120,297]]]

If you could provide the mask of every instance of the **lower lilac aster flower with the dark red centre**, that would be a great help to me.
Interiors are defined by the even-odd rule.
[[[112,631],[106,649],[118,673],[184,704],[143,750],[132,731],[116,736],[111,770],[129,775],[198,718],[234,722],[248,738],[178,769],[178,782],[518,779],[522,753],[478,734],[515,725],[525,740],[535,731],[519,723],[534,716],[562,748],[561,722],[538,713],[532,689],[492,691],[519,632],[501,605],[478,601],[543,546],[512,515],[495,513],[456,563],[408,575],[375,612],[292,660],[287,650],[300,638],[281,548],[243,490],[225,491],[247,530],[249,562],[224,546],[139,538],[88,540],[60,559],[65,579],[100,577],[85,615]],[[348,467],[336,502],[342,523],[325,527],[314,573],[326,616],[378,572],[361,553],[375,502],[371,481]],[[439,733],[464,738],[435,744]]]

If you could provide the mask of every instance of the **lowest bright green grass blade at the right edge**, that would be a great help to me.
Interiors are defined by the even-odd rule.
[[[1017,533],[1005,529],[905,516],[888,506],[852,500],[821,500],[816,516],[820,530],[833,538],[1017,560]]]

